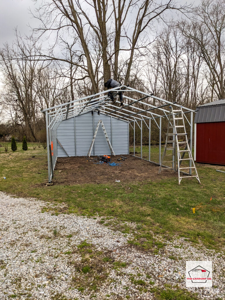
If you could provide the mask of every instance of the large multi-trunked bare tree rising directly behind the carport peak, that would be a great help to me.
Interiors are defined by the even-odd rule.
[[[151,41],[148,36],[154,32],[151,30],[151,27],[155,28],[154,21],[165,19],[164,13],[169,10],[183,12],[187,11],[187,8],[186,5],[179,6],[176,0],[47,0],[43,1],[36,13],[43,26],[34,32],[38,32],[39,35],[48,31],[57,32],[56,42],[58,36],[65,34],[72,39],[78,38],[79,60],[71,61],[69,58],[60,58],[53,54],[45,57],[60,59],[77,66],[81,73],[88,75],[96,93],[99,91],[100,80],[96,74],[96,55],[93,55],[95,50],[91,43],[94,35],[99,45],[102,79],[107,81],[112,70],[114,79],[118,79],[119,54],[122,51],[128,53],[123,77],[125,84],[128,84],[135,58],[143,55],[140,54],[141,49],[147,49]],[[98,71],[99,67],[100,65],[97,67]]]

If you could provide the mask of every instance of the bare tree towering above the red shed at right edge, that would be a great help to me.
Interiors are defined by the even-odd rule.
[[[225,98],[224,1],[202,0],[194,10],[193,21],[179,22],[179,28],[201,48],[200,55],[208,69],[208,83],[219,99]]]

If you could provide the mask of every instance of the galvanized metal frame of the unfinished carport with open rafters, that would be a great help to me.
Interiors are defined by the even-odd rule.
[[[111,100],[108,96],[108,92],[111,91],[115,93],[115,97],[118,97],[118,92],[123,89],[123,98],[124,106],[117,107],[116,105],[111,104]],[[155,104],[151,104],[150,99],[155,99]],[[148,99],[148,100],[147,100]],[[143,102],[145,100],[146,102]],[[117,103],[120,103],[118,100]],[[125,85],[120,86],[119,88],[111,88],[107,91],[102,91],[94,95],[90,95],[84,98],[77,99],[75,101],[70,101],[67,103],[59,104],[54,107],[46,108],[41,110],[45,114],[46,120],[46,136],[47,136],[47,155],[48,155],[48,180],[52,181],[53,172],[55,168],[55,163],[57,160],[57,141],[56,141],[56,131],[59,124],[66,119],[79,116],[81,114],[90,112],[90,111],[100,111],[101,113],[109,116],[113,116],[117,119],[123,119],[129,122],[129,125],[134,130],[134,155],[135,155],[135,126],[137,125],[141,130],[141,155],[142,158],[142,127],[143,123],[149,129],[149,159],[147,161],[159,165],[161,163],[161,124],[162,118],[167,118],[169,116],[169,108],[172,107],[181,107],[175,102],[155,97],[153,95],[147,94],[143,91],[127,87]],[[190,149],[192,149],[192,135],[193,135],[193,113],[194,110],[191,110],[187,107],[182,107],[184,112],[185,119],[187,120],[188,125],[190,126]],[[155,111],[155,112],[153,112]],[[151,161],[151,122],[156,124],[159,129],[159,160],[158,162]],[[138,157],[139,158],[139,157]],[[146,160],[146,159],[145,159]],[[165,166],[167,167],[167,166]],[[191,175],[191,169],[190,169]]]

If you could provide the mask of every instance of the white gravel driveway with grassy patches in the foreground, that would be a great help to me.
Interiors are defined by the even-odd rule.
[[[195,248],[180,238],[166,241],[167,246],[154,255],[128,244],[131,235],[108,229],[99,223],[99,217],[42,213],[41,208],[46,205],[40,200],[13,198],[0,192],[1,300],[101,300],[129,296],[130,299],[155,299],[150,292],[152,287],[163,289],[167,283],[185,289],[186,260],[212,260],[214,271],[212,288],[188,290],[197,292],[199,299],[225,299],[224,253],[215,253],[199,245]],[[104,276],[105,279],[99,281],[95,290],[89,289],[94,286],[94,278],[93,283],[87,283],[92,280],[87,279],[91,273],[85,275],[79,270],[84,255],[77,245],[82,241],[91,244],[93,253],[102,251],[102,254],[99,252],[101,257],[105,255],[112,262],[126,262],[118,268],[112,262],[102,262],[102,271],[96,267],[93,274],[99,272],[100,278]],[[178,257],[178,261],[172,256]],[[95,258],[91,259],[93,262]],[[143,280],[146,285],[137,280]],[[83,286],[84,290],[79,291],[78,286]]]

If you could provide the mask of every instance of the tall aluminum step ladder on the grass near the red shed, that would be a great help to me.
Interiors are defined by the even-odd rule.
[[[181,133],[178,132],[179,129],[182,131]],[[172,130],[173,132],[171,132]],[[184,138],[183,142],[178,141],[179,136]],[[172,147],[169,147],[171,144]],[[184,150],[183,149],[180,150],[179,145],[181,144],[185,144],[186,147]],[[176,150],[177,150],[177,167],[176,167]],[[188,155],[188,157],[186,154]],[[184,158],[185,155],[186,157]],[[172,156],[172,160],[168,160],[167,158],[165,160],[165,156]],[[181,167],[182,161],[189,161],[189,167]],[[164,163],[169,163],[169,162],[172,163],[172,167],[166,167],[164,165]],[[164,152],[163,152],[158,174],[161,173],[161,170],[174,170],[175,173],[177,171],[179,184],[182,178],[190,178],[190,177],[195,177],[200,183],[199,176],[192,157],[192,153],[189,147],[189,141],[187,140],[187,133],[184,124],[184,113],[182,107],[179,110],[173,110],[173,107],[170,107],[166,143],[165,143]],[[189,174],[185,172],[188,170],[189,170]],[[194,175],[192,175],[192,170],[195,172]],[[180,172],[182,172],[183,174],[187,174],[187,176],[181,176]]]

